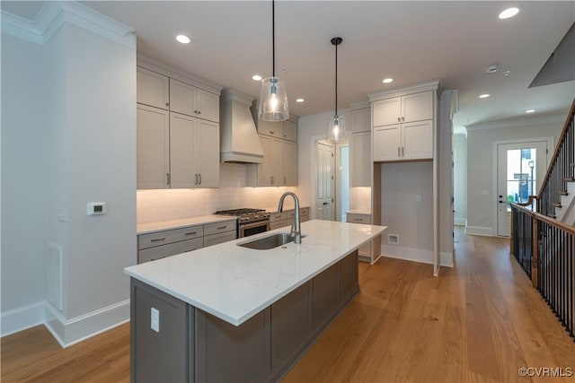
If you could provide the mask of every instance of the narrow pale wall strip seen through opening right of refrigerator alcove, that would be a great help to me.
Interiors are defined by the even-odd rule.
[[[454,213],[455,224],[465,226],[467,222],[467,137],[454,135]]]

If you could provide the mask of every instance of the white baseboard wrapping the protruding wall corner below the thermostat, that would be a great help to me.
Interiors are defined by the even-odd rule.
[[[97,309],[76,318],[66,319],[46,303],[46,327],[62,347],[82,342],[129,320],[129,300]]]

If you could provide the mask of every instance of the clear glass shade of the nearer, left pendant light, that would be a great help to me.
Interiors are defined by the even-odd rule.
[[[258,117],[264,121],[283,121],[289,118],[286,83],[278,77],[261,80]]]

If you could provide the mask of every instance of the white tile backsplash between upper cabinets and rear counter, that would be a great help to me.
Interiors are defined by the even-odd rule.
[[[296,187],[246,187],[246,165],[220,164],[220,187],[137,191],[137,222],[158,222],[240,207],[275,208],[286,191]],[[288,205],[290,204],[290,205]],[[286,208],[292,207],[291,199]]]

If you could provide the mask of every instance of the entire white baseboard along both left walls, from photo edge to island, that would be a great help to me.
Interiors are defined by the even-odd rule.
[[[51,303],[43,300],[3,313],[2,336],[43,324],[62,347],[67,347],[122,325],[128,320],[129,300],[122,300],[72,319],[64,318]]]

